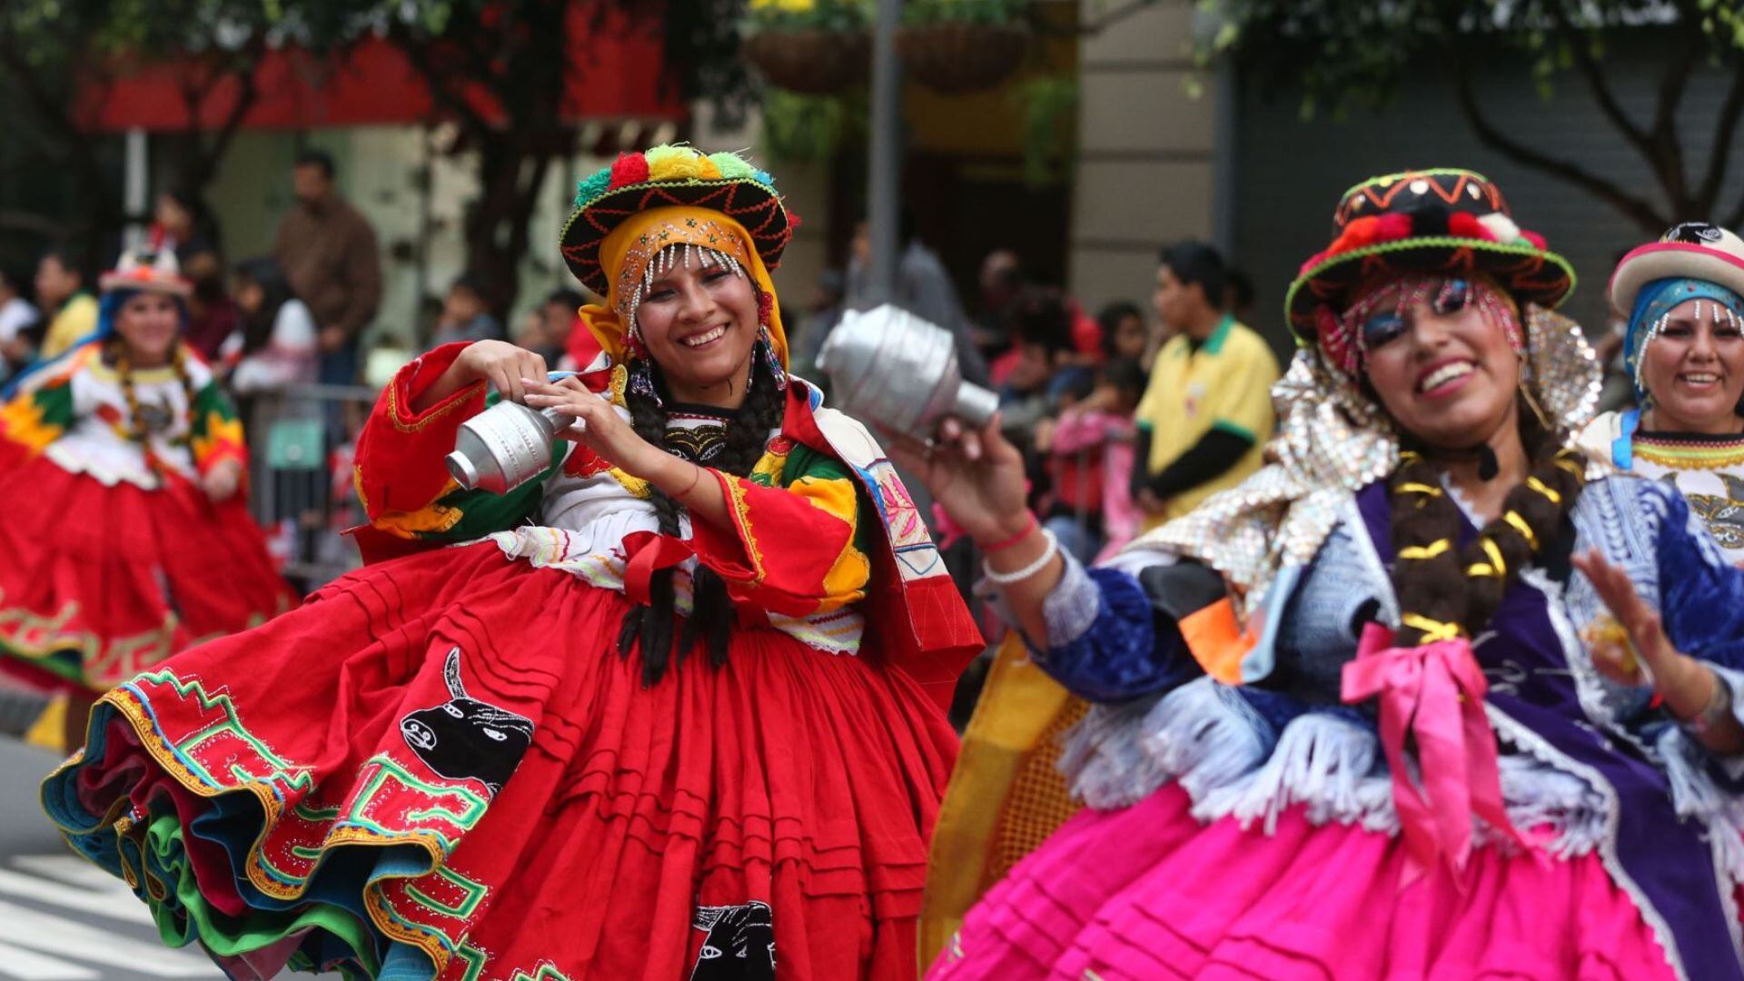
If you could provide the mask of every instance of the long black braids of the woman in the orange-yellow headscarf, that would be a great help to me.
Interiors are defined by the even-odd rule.
[[[738,412],[727,421],[727,440],[713,468],[734,477],[748,477],[757,461],[762,459],[769,435],[781,424],[785,400],[776,379],[767,367],[767,358],[759,347],[752,351],[750,391]],[[659,381],[659,368],[649,365],[654,375],[656,391],[664,386]],[[647,394],[626,393],[624,403],[630,407],[630,419],[635,431],[644,440],[666,445],[666,410]],[[649,487],[654,501],[654,513],[659,517],[661,534],[678,534],[678,517],[682,506],[657,487]],[[654,684],[666,674],[666,665],[677,656],[682,662],[698,641],[708,648],[710,662],[727,663],[727,641],[732,632],[732,599],[727,595],[727,583],[712,569],[698,566],[691,578],[691,616],[675,635],[673,571],[661,569],[649,583],[649,604],[635,606],[624,614],[617,632],[617,651],[630,656],[631,648],[642,648],[642,683]]]

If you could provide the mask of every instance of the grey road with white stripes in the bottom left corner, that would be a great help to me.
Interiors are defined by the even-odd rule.
[[[0,738],[0,981],[221,981],[157,939],[127,885],[73,855],[37,803],[58,759]]]

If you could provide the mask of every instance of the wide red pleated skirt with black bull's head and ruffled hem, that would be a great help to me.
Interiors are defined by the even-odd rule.
[[[488,541],[370,566],[108,695],[45,805],[239,978],[914,978],[931,698],[755,627],[647,686],[626,609]]]

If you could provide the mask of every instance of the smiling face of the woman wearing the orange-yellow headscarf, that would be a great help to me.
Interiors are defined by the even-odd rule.
[[[637,326],[678,401],[736,408],[745,398],[757,342],[757,290],[748,276],[680,258],[649,283]]]

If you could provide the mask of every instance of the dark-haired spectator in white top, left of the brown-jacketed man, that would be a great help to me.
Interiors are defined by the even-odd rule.
[[[272,257],[235,267],[242,330],[232,335],[230,391],[253,396],[316,381],[316,319]],[[228,361],[230,358],[227,358]]]

